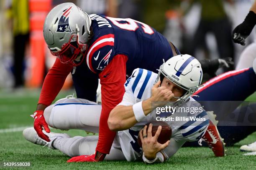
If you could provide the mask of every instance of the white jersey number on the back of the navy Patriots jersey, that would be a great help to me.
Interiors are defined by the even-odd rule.
[[[129,30],[129,31],[136,31],[139,26],[137,23],[141,24],[141,28],[146,34],[154,34],[154,31],[152,28],[144,23],[141,23],[139,21],[133,20],[131,18],[112,18],[112,17],[107,17],[114,25],[118,26],[119,28],[122,28],[124,30]],[[126,23],[119,23],[120,21],[126,22]]]

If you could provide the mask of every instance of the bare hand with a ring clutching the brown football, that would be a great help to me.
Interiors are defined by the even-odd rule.
[[[159,126],[157,128],[156,134],[152,136],[152,126],[152,123],[149,124],[148,131],[146,131],[147,126],[145,126],[143,129],[141,129],[139,135],[141,138],[143,153],[148,160],[154,160],[156,158],[156,153],[166,148],[170,143],[170,140],[164,144],[157,142],[162,127]]]

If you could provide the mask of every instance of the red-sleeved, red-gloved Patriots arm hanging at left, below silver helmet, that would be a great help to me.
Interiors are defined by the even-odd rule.
[[[46,141],[50,141],[47,135],[42,132],[42,127],[47,133],[50,129],[44,119],[44,109],[51,104],[51,102],[58,95],[61,87],[63,86],[67,75],[72,70],[69,65],[62,64],[57,58],[53,67],[49,70],[44,79],[44,84],[39,97],[36,111],[34,112],[34,129],[38,136]]]

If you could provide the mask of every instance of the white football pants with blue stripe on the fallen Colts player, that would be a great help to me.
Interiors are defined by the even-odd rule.
[[[61,130],[79,129],[99,133],[101,105],[85,99],[64,98],[46,107],[44,117],[47,124]],[[98,136],[75,136],[56,138],[54,148],[70,157],[91,155],[95,152]],[[115,137],[110,154],[105,160],[125,160],[119,137]]]

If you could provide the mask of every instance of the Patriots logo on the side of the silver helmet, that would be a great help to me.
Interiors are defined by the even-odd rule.
[[[69,27],[69,13],[71,11],[71,8],[72,6],[65,10],[64,13],[61,15],[56,32],[71,32],[71,29]]]

